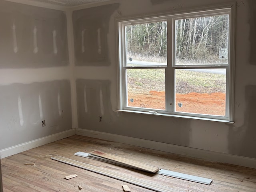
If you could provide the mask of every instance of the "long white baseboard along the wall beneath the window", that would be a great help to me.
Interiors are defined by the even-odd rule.
[[[139,138],[132,138],[127,136],[121,136],[116,134],[109,134],[104,132],[86,130],[86,129],[76,129],[77,135],[104,139],[114,142],[120,142],[124,144],[130,144],[134,146],[140,146],[144,148],[150,148],[154,150],[160,150],[164,152],[185,155],[195,158],[201,158],[204,160],[210,160],[214,162],[222,162],[222,163],[229,163],[239,166],[245,166],[250,168],[256,168],[256,159],[255,158],[248,158],[243,156],[237,156],[232,154],[220,153],[220,152],[213,152],[208,150],[178,146],[173,144],[161,143],[156,141],[150,141],[145,139]]]

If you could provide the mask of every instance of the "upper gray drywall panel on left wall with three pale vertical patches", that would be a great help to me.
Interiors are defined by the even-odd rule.
[[[0,2],[0,68],[67,66],[63,11]]]

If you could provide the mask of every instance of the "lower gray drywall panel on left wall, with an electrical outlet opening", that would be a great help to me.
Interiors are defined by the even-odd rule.
[[[72,128],[69,80],[4,85],[0,92],[0,149]]]

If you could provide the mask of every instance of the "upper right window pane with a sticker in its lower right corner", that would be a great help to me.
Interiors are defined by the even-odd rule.
[[[175,64],[228,64],[229,15],[175,21]]]

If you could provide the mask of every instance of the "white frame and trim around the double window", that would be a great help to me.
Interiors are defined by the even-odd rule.
[[[223,65],[223,68],[227,69],[227,81],[226,81],[226,90],[227,90],[227,96],[226,98],[226,115],[228,114],[228,118],[227,117],[222,117],[222,116],[211,116],[211,115],[200,115],[200,114],[192,114],[192,113],[188,113],[189,115],[186,116],[186,113],[182,112],[174,112],[174,105],[172,105],[172,111],[173,112],[167,112],[167,111],[163,111],[163,110],[156,110],[154,109],[154,111],[156,111],[156,114],[153,115],[160,115],[160,116],[171,116],[171,117],[179,117],[179,118],[192,118],[192,119],[202,119],[202,120],[212,120],[212,121],[218,121],[218,122],[229,122],[229,123],[234,123],[234,64],[235,64],[235,32],[236,32],[236,2],[234,3],[229,3],[229,4],[222,4],[222,5],[217,5],[217,6],[210,6],[210,7],[203,7],[203,8],[196,8],[196,9],[187,9],[187,10],[177,10],[177,11],[172,11],[172,12],[165,12],[165,13],[156,13],[156,14],[149,14],[149,15],[142,15],[142,16],[133,16],[133,17],[119,17],[116,18],[116,26],[118,28],[118,111],[121,112],[133,112],[133,113],[140,113],[140,114],[149,114],[148,113],[148,109],[144,109],[144,108],[133,108],[132,107],[125,107],[124,103],[126,102],[126,94],[124,94],[124,87],[126,86],[126,82],[124,81],[124,77],[125,77],[125,69],[122,67],[122,64],[124,64],[126,62],[126,58],[125,58],[125,54],[123,54],[123,50],[125,50],[125,45],[122,43],[122,39],[125,39],[125,34],[122,28],[123,24],[139,24],[139,23],[145,23],[145,22],[157,22],[157,21],[162,21],[162,20],[167,20],[170,18],[175,18],[175,19],[180,19],[183,17],[189,17],[189,16],[202,16],[202,14],[204,14],[204,16],[210,16],[210,15],[214,15],[216,13],[221,14],[222,12],[220,11],[222,10],[223,13],[227,13],[229,12],[230,14],[230,30],[229,30],[229,66],[225,66]],[[198,14],[196,14],[196,12],[199,12]],[[183,16],[181,16],[181,14]],[[184,16],[184,14],[186,14],[186,16]],[[172,22],[172,24],[174,24],[174,22]],[[172,28],[173,26],[168,26],[168,32],[172,32]],[[169,36],[169,35],[168,35]],[[173,35],[172,35],[173,37]],[[168,49],[173,48],[172,46],[172,41],[173,38],[171,38],[171,40],[168,41]],[[173,51],[171,51],[172,54],[174,53]],[[123,57],[124,56],[124,57]],[[166,68],[166,70],[172,70],[172,73],[174,73],[174,69],[175,68],[182,68],[182,66],[173,66],[172,64],[174,57],[170,54],[168,54],[167,60],[168,62],[172,62],[172,63],[168,63],[167,66],[158,66],[156,68]],[[205,66],[204,66],[205,67]],[[137,67],[136,67],[137,68]],[[146,67],[138,67],[138,68],[146,68]],[[150,68],[152,68],[152,66],[150,66]],[[210,66],[209,68],[213,68],[212,66]],[[220,68],[220,67],[218,67]],[[173,74],[172,74],[173,75]],[[229,76],[230,75],[230,76]],[[166,77],[168,78],[168,77]],[[168,80],[170,82],[170,80]],[[167,81],[166,81],[167,82]],[[172,86],[174,86],[174,82],[170,82],[172,84]],[[166,103],[168,102],[172,102],[172,98],[170,97],[172,93],[170,93],[170,91],[174,90],[174,87],[172,87],[172,89],[166,89],[166,96],[169,94],[169,96],[167,97],[168,99],[166,99]],[[169,93],[168,93],[169,92]],[[227,105],[228,104],[228,105]],[[166,105],[167,106],[167,105]],[[166,108],[166,110],[168,110]],[[152,114],[151,114],[152,115]]]

